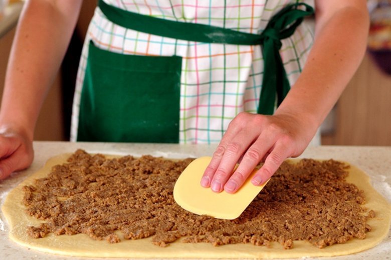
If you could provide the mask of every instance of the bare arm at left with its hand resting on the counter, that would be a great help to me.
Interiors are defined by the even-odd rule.
[[[7,67],[0,110],[0,179],[33,161],[39,111],[60,68],[82,0],[27,1]]]

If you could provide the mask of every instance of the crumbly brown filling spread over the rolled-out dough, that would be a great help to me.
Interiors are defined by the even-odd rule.
[[[374,212],[361,204],[363,192],[345,181],[341,162],[303,159],[284,162],[243,214],[234,220],[192,214],[172,196],[174,183],[192,161],[171,161],[146,155],[106,159],[76,151],[68,163],[56,165],[46,178],[24,187],[27,213],[45,220],[28,234],[43,237],[85,233],[93,239],[120,242],[153,236],[159,246],[184,242],[213,245],[308,240],[323,248],[363,239]]]

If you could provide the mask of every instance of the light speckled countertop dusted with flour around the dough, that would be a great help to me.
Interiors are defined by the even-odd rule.
[[[17,186],[28,175],[41,168],[55,155],[85,149],[91,153],[131,154],[140,156],[151,154],[167,158],[186,158],[212,155],[212,145],[177,145],[177,144],[118,144],[118,143],[71,143],[71,142],[35,142],[35,159],[32,166],[25,171],[14,173],[0,182],[0,203],[8,191]],[[308,147],[300,157],[314,159],[336,159],[347,161],[367,173],[372,186],[391,203],[391,147],[370,146],[318,146]],[[0,257],[2,259],[69,259],[52,254],[41,253],[17,245],[8,239],[8,225],[3,214],[0,214]],[[369,250],[332,259],[389,259],[391,258],[391,233],[377,246]],[[315,259],[315,258],[314,258]],[[328,258],[321,258],[328,259]]]

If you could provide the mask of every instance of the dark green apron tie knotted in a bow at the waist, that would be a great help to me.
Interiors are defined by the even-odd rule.
[[[99,0],[98,6],[114,24],[142,33],[190,42],[260,45],[264,57],[264,74],[257,113],[265,115],[274,113],[276,96],[279,106],[290,89],[279,53],[281,40],[293,35],[304,18],[314,14],[314,9],[307,4],[291,4],[275,14],[261,34],[249,34],[221,27],[140,15],[110,6],[103,0]],[[299,7],[304,7],[305,10],[300,10]]]

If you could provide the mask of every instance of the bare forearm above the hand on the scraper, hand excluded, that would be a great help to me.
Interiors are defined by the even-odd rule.
[[[317,11],[318,14],[318,11]],[[359,66],[366,48],[366,9],[319,12],[315,41],[302,74],[276,111],[301,115],[318,127]]]

